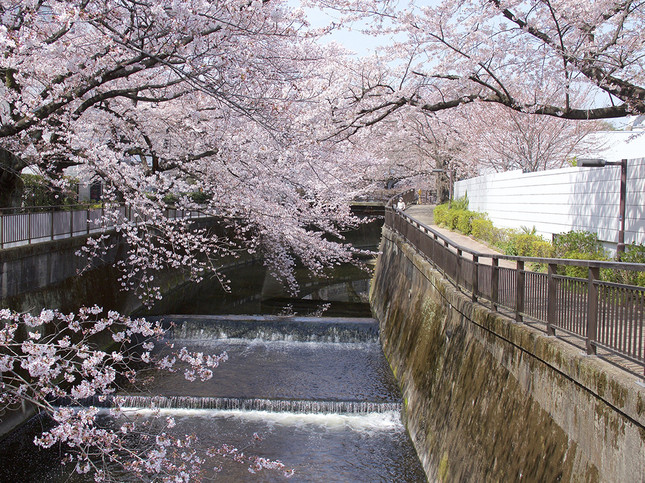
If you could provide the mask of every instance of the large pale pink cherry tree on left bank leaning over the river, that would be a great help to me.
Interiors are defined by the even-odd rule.
[[[296,260],[314,271],[351,260],[340,228],[357,223],[348,205],[369,159],[323,141],[339,54],[316,46],[298,11],[279,0],[4,0],[0,17],[3,193],[24,166],[100,176],[107,199],[147,220],[120,227],[133,247],[126,288],[158,297],[154,270],[199,279],[239,250],[263,250],[291,288]],[[164,199],[234,220],[239,236],[169,220]]]

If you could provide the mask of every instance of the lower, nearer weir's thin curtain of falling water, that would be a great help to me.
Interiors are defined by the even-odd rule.
[[[59,406],[70,401],[59,400]],[[109,396],[89,398],[83,406],[127,407],[141,409],[214,409],[222,411],[267,411],[313,414],[370,414],[401,412],[400,402],[372,401],[312,401],[282,400],[238,397],[195,397],[195,396]]]

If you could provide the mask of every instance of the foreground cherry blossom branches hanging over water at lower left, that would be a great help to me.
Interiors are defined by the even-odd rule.
[[[208,380],[227,360],[225,352],[207,355],[181,348],[162,357],[155,351],[164,334],[158,321],[104,314],[96,306],[70,314],[43,310],[37,316],[2,309],[0,322],[0,409],[4,413],[30,403],[46,413],[51,425],[34,443],[62,445],[77,472],[92,473],[97,481],[116,480],[115,473],[123,470],[142,479],[191,481],[216,466],[213,458],[232,454],[221,448],[199,451],[196,437],[170,434],[172,418],[132,416],[118,398],[110,411],[111,421],[120,422],[116,426],[101,423],[99,408],[84,404],[88,399],[104,402],[121,382],[135,383],[135,369],[142,365],[183,371],[191,381]],[[288,473],[280,462],[233,459],[243,460],[251,471]]]

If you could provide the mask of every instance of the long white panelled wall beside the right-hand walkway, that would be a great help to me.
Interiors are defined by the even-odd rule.
[[[618,241],[619,166],[494,173],[455,183],[455,197],[465,194],[470,210],[487,213],[500,228],[535,226],[548,239],[586,230]],[[645,158],[627,164],[625,242],[645,243]]]

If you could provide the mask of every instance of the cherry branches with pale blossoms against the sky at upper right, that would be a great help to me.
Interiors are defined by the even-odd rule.
[[[364,79],[348,102],[350,134],[405,106],[438,112],[477,101],[576,120],[645,112],[641,2],[312,3],[404,38],[384,49],[396,60],[390,71]],[[580,86],[593,87],[594,103],[576,95]]]

